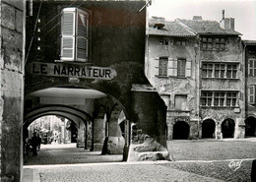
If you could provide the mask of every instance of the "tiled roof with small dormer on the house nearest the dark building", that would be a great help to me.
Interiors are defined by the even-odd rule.
[[[164,25],[161,30],[154,28],[155,25]],[[196,34],[190,30],[186,30],[177,22],[166,22],[163,20],[149,20],[149,28],[147,34],[167,35],[167,36],[195,36]]]

